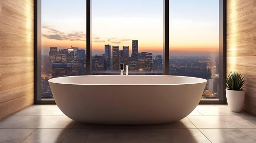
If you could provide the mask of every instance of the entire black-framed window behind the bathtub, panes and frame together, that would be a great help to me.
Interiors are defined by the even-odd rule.
[[[225,2],[37,0],[36,101],[53,100],[51,78],[124,64],[129,75],[207,79],[201,103],[225,103]]]

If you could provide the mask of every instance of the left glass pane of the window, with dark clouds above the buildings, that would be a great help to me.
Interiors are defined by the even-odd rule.
[[[42,1],[42,99],[50,78],[86,75],[86,0]]]

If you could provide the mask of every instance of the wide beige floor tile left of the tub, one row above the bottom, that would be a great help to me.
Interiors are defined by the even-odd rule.
[[[62,115],[14,115],[0,122],[0,128],[72,128],[73,124],[73,120]]]

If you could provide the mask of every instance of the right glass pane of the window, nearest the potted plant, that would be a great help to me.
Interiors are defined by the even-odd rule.
[[[219,0],[169,3],[170,75],[207,79],[202,99],[218,100]]]

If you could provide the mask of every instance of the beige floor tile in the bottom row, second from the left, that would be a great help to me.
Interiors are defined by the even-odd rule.
[[[61,143],[70,129],[37,129],[22,143]]]

